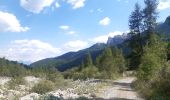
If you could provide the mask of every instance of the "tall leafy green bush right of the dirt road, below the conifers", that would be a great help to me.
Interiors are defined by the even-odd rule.
[[[157,77],[167,60],[165,43],[156,34],[151,35],[150,43],[145,46],[139,66],[138,78],[149,81]]]

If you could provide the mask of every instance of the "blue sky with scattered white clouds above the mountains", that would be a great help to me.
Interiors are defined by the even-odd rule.
[[[34,62],[106,42],[128,31],[128,17],[143,0],[0,0],[0,57]],[[163,22],[170,0],[158,5]]]

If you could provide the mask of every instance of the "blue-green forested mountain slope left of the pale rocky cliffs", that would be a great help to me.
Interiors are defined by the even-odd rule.
[[[107,45],[104,43],[97,43],[90,48],[80,50],[77,52],[68,52],[64,55],[55,58],[47,58],[32,63],[31,67],[56,67],[59,71],[65,71],[72,67],[76,67],[82,63],[88,53],[91,54],[93,60],[101,54]]]

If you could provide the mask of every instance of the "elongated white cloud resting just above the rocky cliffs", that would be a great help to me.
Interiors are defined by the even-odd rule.
[[[122,34],[123,32],[120,31],[110,32],[109,34],[95,37],[94,39],[92,39],[92,41],[95,43],[107,43],[109,37],[114,37],[116,35],[122,35]]]

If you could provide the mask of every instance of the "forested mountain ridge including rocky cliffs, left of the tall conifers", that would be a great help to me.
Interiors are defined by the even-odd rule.
[[[127,37],[127,34],[118,35],[113,38],[109,37],[107,44],[96,43],[87,49],[83,49],[77,52],[68,52],[55,58],[43,59],[32,63],[30,66],[45,68],[56,67],[59,71],[65,71],[67,69],[79,66],[82,61],[84,61],[88,53],[91,54],[92,59],[95,63],[96,57],[99,56],[106,47],[118,46],[120,48],[124,48],[121,44],[127,39]]]

